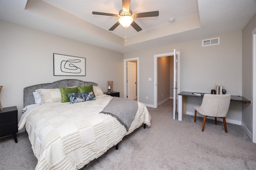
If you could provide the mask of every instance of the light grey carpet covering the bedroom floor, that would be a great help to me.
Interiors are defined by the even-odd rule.
[[[255,170],[256,144],[240,125],[183,115],[172,119],[172,100],[150,108],[151,127],[124,137],[119,149],[109,149],[82,170]],[[0,139],[0,170],[34,170],[37,159],[28,134]]]

